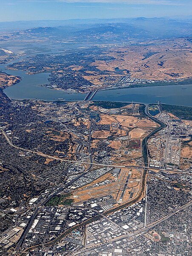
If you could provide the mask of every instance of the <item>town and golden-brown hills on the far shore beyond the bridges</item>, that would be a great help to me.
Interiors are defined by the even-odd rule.
[[[97,47],[75,49],[73,53],[66,50],[62,54],[43,53],[26,58],[20,53],[6,69],[8,72],[26,71],[31,75],[49,72],[49,83],[42,86],[68,92],[182,84],[183,79],[187,79],[184,83],[191,83],[191,42],[188,38],[156,40],[147,47],[143,43],[149,44],[149,41],[139,43],[135,40],[127,45],[98,44]],[[0,62],[5,64],[14,54],[3,50],[6,56],[1,57]],[[175,53],[183,65],[174,61]],[[17,57],[21,57],[18,62]]]

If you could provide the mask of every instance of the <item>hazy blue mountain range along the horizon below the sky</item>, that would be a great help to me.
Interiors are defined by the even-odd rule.
[[[33,27],[32,25],[37,25]],[[32,28],[26,28],[31,26]],[[75,36],[85,39],[172,38],[192,36],[192,19],[122,18],[67,21],[16,21],[0,23],[0,29],[16,29],[16,35]]]

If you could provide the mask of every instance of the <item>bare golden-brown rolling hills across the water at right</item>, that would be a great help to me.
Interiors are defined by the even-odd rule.
[[[157,52],[149,58],[143,58],[146,53]],[[179,78],[192,77],[192,52],[191,44],[184,38],[174,40],[156,40],[149,42],[148,46],[142,44],[138,46],[114,47],[107,56],[112,56],[115,60],[96,61],[92,65],[101,71],[114,71],[115,68],[127,69],[134,78],[143,79],[175,79],[170,74],[179,74]],[[160,66],[160,62],[163,66]],[[146,68],[147,65],[147,68]],[[176,77],[177,78],[177,77]]]

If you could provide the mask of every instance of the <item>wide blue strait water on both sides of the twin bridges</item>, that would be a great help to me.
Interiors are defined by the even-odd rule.
[[[27,75],[24,71],[6,70],[5,65],[0,70],[8,74],[22,77],[21,82],[4,90],[8,97],[16,100],[40,99],[46,101],[63,98],[66,101],[83,100],[86,94],[66,93],[61,90],[45,88],[39,85],[47,84],[49,73]],[[186,89],[182,89],[182,88]],[[98,91],[93,100],[123,101],[136,103],[162,103],[181,106],[192,106],[192,85],[166,85],[141,88],[124,88]]]

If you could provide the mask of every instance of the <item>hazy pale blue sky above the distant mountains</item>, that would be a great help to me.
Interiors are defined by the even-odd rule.
[[[192,0],[0,0],[0,21],[192,15]]]

